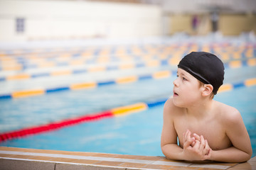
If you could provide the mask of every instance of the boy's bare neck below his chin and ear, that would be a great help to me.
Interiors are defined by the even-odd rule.
[[[213,103],[213,99],[195,103],[193,106],[186,108],[186,113],[195,118],[203,118],[210,113]]]

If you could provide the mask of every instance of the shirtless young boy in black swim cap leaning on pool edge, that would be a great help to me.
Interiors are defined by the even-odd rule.
[[[239,111],[213,100],[223,79],[223,62],[208,52],[191,52],[179,62],[174,96],[164,105],[161,149],[168,159],[250,159],[250,137]]]

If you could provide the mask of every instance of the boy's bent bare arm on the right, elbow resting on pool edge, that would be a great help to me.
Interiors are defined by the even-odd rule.
[[[225,129],[233,147],[213,151],[210,159],[219,162],[246,162],[249,160],[252,157],[250,137],[238,111],[231,116],[228,115]]]

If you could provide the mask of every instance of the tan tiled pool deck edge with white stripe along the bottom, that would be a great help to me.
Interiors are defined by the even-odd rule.
[[[67,152],[45,149],[0,147],[0,169],[256,169],[256,157],[248,162],[203,164],[177,162],[165,157],[105,154],[94,152]]]

